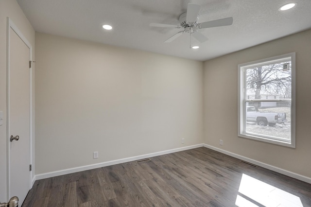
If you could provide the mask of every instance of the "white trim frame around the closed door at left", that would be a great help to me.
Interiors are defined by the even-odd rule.
[[[6,171],[7,171],[7,200],[10,199],[10,197],[14,196],[14,195],[10,195],[10,190],[11,190],[11,182],[10,182],[10,178],[11,178],[11,165],[10,165],[10,121],[11,121],[11,117],[10,117],[10,29],[12,29],[17,36],[25,43],[25,45],[29,48],[29,60],[32,61],[33,60],[33,48],[32,45],[30,44],[30,42],[26,39],[26,37],[20,32],[20,30],[17,28],[17,26],[14,24],[14,22],[12,21],[12,19],[10,17],[7,17],[7,30],[6,30],[6,142],[7,142],[7,146],[6,146],[6,152],[7,152],[7,167],[6,167]],[[29,157],[29,163],[33,166],[32,160],[33,160],[33,69],[32,67],[30,67],[30,108],[29,108],[29,112],[30,112],[30,120],[29,120],[29,127],[30,127],[30,157]],[[34,170],[34,168],[32,169]],[[32,184],[34,183],[32,181],[33,179],[33,173],[29,173],[30,177],[29,177],[29,190],[32,187]]]

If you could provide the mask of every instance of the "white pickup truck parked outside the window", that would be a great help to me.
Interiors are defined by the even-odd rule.
[[[246,121],[257,122],[261,126],[274,126],[287,121],[286,113],[260,112],[255,106],[246,106]]]

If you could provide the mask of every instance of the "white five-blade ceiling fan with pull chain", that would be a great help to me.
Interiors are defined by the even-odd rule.
[[[180,23],[179,25],[151,23],[150,26],[151,27],[176,28],[176,29],[183,28],[184,29],[183,31],[176,33],[175,35],[171,36],[164,42],[172,42],[173,40],[177,39],[179,36],[185,33],[189,33],[190,34],[190,47],[191,47],[191,35],[201,43],[207,41],[207,37],[199,32],[201,29],[228,26],[233,23],[232,17],[198,23],[198,19],[199,19],[198,15],[199,15],[200,9],[201,9],[201,6],[198,4],[188,3],[187,12],[182,13],[179,16],[179,23]]]

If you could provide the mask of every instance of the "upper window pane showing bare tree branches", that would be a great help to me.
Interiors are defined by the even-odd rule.
[[[291,99],[291,61],[246,69],[247,99]]]

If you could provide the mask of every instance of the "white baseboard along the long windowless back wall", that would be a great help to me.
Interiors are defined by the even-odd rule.
[[[157,152],[157,153],[150,153],[150,154],[146,154],[146,155],[132,156],[132,157],[128,157],[128,158],[117,159],[117,160],[112,160],[112,161],[107,161],[107,162],[102,162],[102,163],[96,163],[96,164],[86,165],[86,166],[81,166],[81,167],[76,167],[76,168],[69,168],[69,169],[54,171],[54,172],[50,172],[50,173],[36,174],[34,176],[33,180],[41,180],[41,179],[59,176],[59,175],[64,175],[64,174],[69,174],[69,173],[77,173],[77,172],[81,172],[81,171],[87,171],[87,170],[92,170],[92,169],[96,169],[96,168],[102,168],[102,167],[106,167],[106,166],[110,166],[110,165],[121,164],[124,162],[131,162],[134,160],[145,159],[148,157],[154,157],[154,156],[159,156],[159,155],[166,155],[166,154],[170,154],[170,153],[180,152],[180,151],[184,151],[184,150],[190,150],[190,149],[194,149],[194,148],[198,148],[198,147],[203,147],[203,144],[196,144],[196,145],[176,148],[176,149],[172,149],[172,150],[165,150],[165,151],[161,151],[161,152]]]

